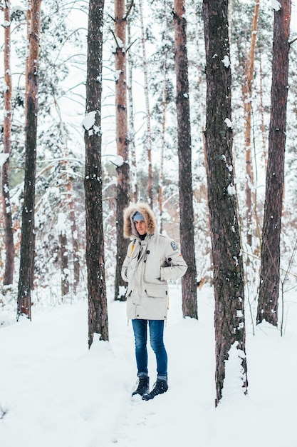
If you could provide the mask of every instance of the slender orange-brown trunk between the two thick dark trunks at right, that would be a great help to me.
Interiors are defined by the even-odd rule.
[[[254,202],[254,172],[251,156],[251,99],[253,94],[254,60],[259,19],[259,4],[259,0],[256,0],[254,6],[253,22],[251,26],[251,47],[249,50],[249,56],[246,58],[246,66],[244,69],[244,85],[242,87],[244,99],[244,142],[246,146],[246,240],[249,246],[252,246],[251,225]]]

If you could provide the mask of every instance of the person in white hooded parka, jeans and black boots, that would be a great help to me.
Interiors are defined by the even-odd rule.
[[[168,308],[167,281],[181,278],[187,271],[187,264],[176,243],[157,233],[155,215],[147,204],[132,204],[125,209],[124,237],[133,238],[122,267],[122,277],[128,283],[127,317],[132,320],[139,378],[132,396],[140,394],[148,401],[168,389],[167,352],[163,341]],[[150,392],[147,326],[157,361],[157,381]]]

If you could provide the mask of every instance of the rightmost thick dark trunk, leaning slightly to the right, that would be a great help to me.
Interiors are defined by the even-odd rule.
[[[278,322],[281,210],[283,204],[284,154],[286,147],[286,106],[288,97],[288,38],[291,0],[281,0],[274,11],[271,116],[266,174],[264,225],[257,323]]]

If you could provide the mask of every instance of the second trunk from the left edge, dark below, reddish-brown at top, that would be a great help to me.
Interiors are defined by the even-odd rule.
[[[21,258],[17,316],[22,314],[31,319],[31,290],[33,288],[35,233],[35,177],[36,139],[38,114],[38,58],[41,19],[41,0],[31,0],[28,26],[29,55],[26,64],[26,136],[25,136],[25,179],[24,205],[21,220]]]

